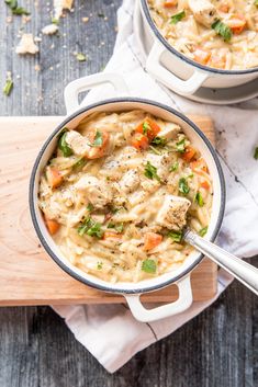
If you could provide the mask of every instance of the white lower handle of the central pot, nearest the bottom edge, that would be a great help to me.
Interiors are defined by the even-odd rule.
[[[190,275],[187,275],[182,280],[177,282],[179,289],[179,297],[176,301],[167,305],[159,306],[154,309],[145,309],[141,303],[139,295],[124,295],[128,307],[136,318],[136,320],[142,322],[152,322],[160,320],[166,317],[181,314],[188,309],[192,304],[192,288]]]

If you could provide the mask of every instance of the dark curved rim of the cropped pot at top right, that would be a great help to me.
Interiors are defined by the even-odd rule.
[[[153,32],[155,33],[155,35],[157,36],[157,38],[164,44],[164,46],[166,46],[166,48],[175,54],[177,57],[179,57],[180,59],[182,59],[183,61],[188,62],[189,65],[192,65],[201,70],[205,70],[205,71],[210,71],[210,72],[214,72],[214,73],[220,73],[220,75],[245,75],[245,73],[253,73],[253,72],[257,72],[258,71],[258,67],[255,68],[250,68],[250,69],[244,69],[244,70],[221,70],[221,69],[216,69],[213,67],[207,67],[201,64],[198,64],[197,61],[188,58],[186,55],[179,53],[176,48],[173,48],[168,41],[162,36],[162,34],[159,32],[159,30],[157,29],[156,24],[153,21],[153,18],[150,15],[149,12],[149,7],[147,4],[147,0],[141,0],[142,2],[142,7],[145,13],[145,16],[148,21],[148,24],[150,25]]]

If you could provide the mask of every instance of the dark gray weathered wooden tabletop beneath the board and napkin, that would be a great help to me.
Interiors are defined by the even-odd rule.
[[[69,81],[101,70],[115,39],[121,0],[76,0],[61,20],[59,36],[43,36],[41,53],[19,57],[19,30],[49,23],[52,0],[20,4],[32,12],[23,24],[0,5],[0,87],[12,71],[14,89],[1,93],[2,115],[65,114],[63,90]],[[90,16],[88,23],[81,18]],[[87,55],[78,62],[74,53]],[[35,66],[41,70],[36,71]],[[1,128],[8,130],[8,128]],[[11,135],[11,134],[10,134]],[[257,225],[254,227],[257,227]],[[254,261],[253,261],[254,262]],[[1,387],[255,387],[258,386],[256,297],[236,282],[207,310],[176,333],[138,353],[114,375],[108,374],[48,307],[0,309]]]

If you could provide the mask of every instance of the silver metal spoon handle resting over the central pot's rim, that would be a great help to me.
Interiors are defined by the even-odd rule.
[[[190,230],[187,230],[184,240],[258,295],[258,269]]]

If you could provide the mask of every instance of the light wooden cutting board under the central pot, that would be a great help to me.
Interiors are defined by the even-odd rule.
[[[207,116],[190,116],[215,141]],[[0,306],[48,304],[104,304],[124,301],[123,296],[88,287],[66,274],[45,253],[29,212],[29,179],[46,137],[63,117],[0,118]],[[192,272],[195,300],[216,293],[216,265],[205,259]],[[146,301],[177,298],[177,287],[143,296]]]

